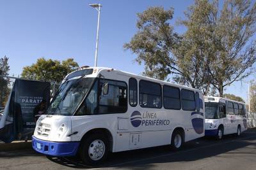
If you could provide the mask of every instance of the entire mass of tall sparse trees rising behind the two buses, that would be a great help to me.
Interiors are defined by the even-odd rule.
[[[255,71],[256,42],[250,39],[256,31],[256,3],[225,0],[221,7],[218,1],[196,0],[185,15],[179,24],[186,32],[178,35],[169,24],[173,8],[138,13],[138,32],[124,48],[138,55],[144,74],[172,77],[205,94],[216,89],[223,96],[225,87]]]

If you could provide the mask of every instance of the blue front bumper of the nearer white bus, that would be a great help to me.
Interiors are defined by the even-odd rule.
[[[32,147],[36,152],[56,157],[74,156],[77,153],[79,142],[52,142],[44,141],[32,136]]]

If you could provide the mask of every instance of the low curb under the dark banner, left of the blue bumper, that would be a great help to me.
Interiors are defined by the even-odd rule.
[[[27,150],[32,148],[31,141],[14,141],[12,143],[0,143],[1,151]]]

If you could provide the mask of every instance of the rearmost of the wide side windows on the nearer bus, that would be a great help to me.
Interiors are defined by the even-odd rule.
[[[191,90],[181,89],[182,110],[195,111],[195,93]]]

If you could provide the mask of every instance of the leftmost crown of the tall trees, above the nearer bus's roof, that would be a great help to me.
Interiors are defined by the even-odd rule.
[[[168,20],[173,18],[173,8],[152,7],[138,13],[138,32],[124,48],[138,54],[136,62],[145,64],[147,76],[164,80],[169,74],[179,74],[175,57],[171,54],[179,41]]]

